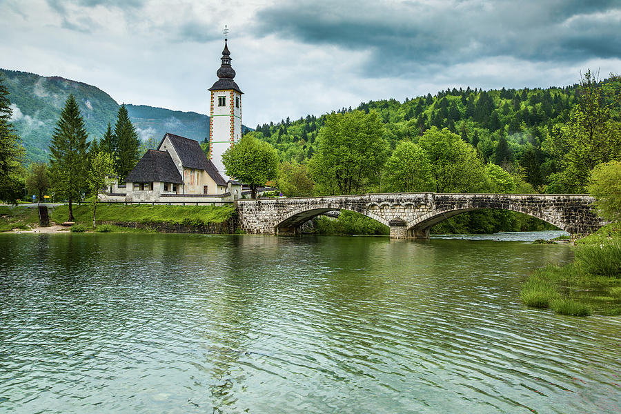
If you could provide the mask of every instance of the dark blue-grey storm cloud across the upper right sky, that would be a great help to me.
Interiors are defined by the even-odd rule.
[[[619,1],[300,4],[257,14],[255,33],[371,50],[369,75],[406,75],[489,57],[579,62],[621,57]],[[334,59],[339,59],[338,55]]]

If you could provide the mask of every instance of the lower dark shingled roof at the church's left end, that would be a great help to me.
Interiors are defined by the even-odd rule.
[[[150,181],[184,183],[168,152],[148,150],[125,179],[125,182],[130,183]]]

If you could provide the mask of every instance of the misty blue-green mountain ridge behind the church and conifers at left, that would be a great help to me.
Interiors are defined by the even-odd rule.
[[[52,133],[71,93],[79,104],[89,140],[101,138],[108,122],[114,127],[119,103],[96,86],[62,77],[42,77],[1,68],[0,76],[9,91],[8,98],[13,110],[12,125],[21,137],[30,161],[48,161]],[[203,141],[209,136],[207,115],[146,105],[126,106],[130,120],[143,140],[155,138],[157,141],[166,132],[197,141]],[[246,130],[246,126],[242,126],[242,129]]]

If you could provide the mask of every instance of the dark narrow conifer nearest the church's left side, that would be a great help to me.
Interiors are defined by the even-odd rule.
[[[117,114],[115,139],[118,146],[116,172],[119,182],[122,182],[136,165],[140,148],[138,133],[129,119],[125,105],[121,105]]]

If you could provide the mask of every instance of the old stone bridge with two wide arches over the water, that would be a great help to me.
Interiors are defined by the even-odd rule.
[[[380,221],[391,238],[428,238],[435,224],[482,208],[500,208],[547,221],[571,235],[593,233],[604,222],[589,195],[393,193],[236,201],[246,233],[297,234],[306,221],[333,210],[351,210]]]

